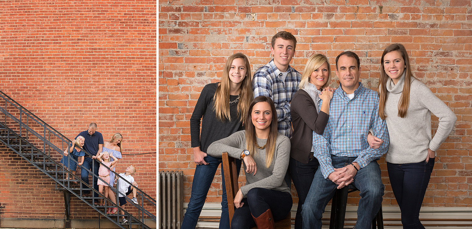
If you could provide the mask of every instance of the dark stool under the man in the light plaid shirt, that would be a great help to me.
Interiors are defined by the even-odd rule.
[[[347,193],[359,191],[354,185],[348,185],[336,190],[331,203],[331,219],[329,229],[344,229],[344,217],[346,216]],[[372,220],[372,229],[383,229],[382,206]]]

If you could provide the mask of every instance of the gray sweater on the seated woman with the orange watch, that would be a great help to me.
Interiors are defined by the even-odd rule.
[[[257,138],[257,144],[260,146],[264,145],[266,142],[267,139]],[[220,158],[223,152],[228,152],[230,157],[241,158],[241,153],[245,149],[246,134],[243,130],[231,134],[227,138],[211,143],[207,153],[213,157]],[[288,160],[290,158],[290,140],[287,136],[277,133],[274,159],[269,168],[265,166],[266,149],[258,149],[257,153],[253,156],[257,166],[256,174],[253,175],[244,172],[246,174],[246,185],[241,187],[241,192],[244,197],[246,197],[247,192],[252,188],[266,188],[290,193],[290,187],[288,187],[287,183],[284,181],[285,174],[287,173]],[[246,170],[245,164],[244,170]]]

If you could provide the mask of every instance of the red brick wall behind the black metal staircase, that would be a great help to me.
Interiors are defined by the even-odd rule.
[[[121,133],[117,172],[135,165],[139,188],[156,198],[156,2],[7,0],[0,7],[0,90],[69,139],[90,122],[105,141]],[[47,176],[2,144],[0,155],[0,217],[65,217],[62,193]],[[75,197],[71,214],[98,215]]]

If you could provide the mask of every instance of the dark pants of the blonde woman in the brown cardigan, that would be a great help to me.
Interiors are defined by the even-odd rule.
[[[302,205],[305,203],[305,198],[312,186],[313,177],[316,170],[320,166],[318,159],[310,158],[308,164],[303,164],[294,158],[290,158],[290,176],[298,195],[298,207],[295,215],[295,229],[302,228]]]

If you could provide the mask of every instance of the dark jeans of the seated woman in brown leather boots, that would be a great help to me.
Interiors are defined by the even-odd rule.
[[[292,194],[288,192],[253,188],[243,198],[243,206],[236,208],[231,229],[250,229],[256,226],[254,217],[259,217],[269,208],[275,221],[283,220],[292,209]]]

